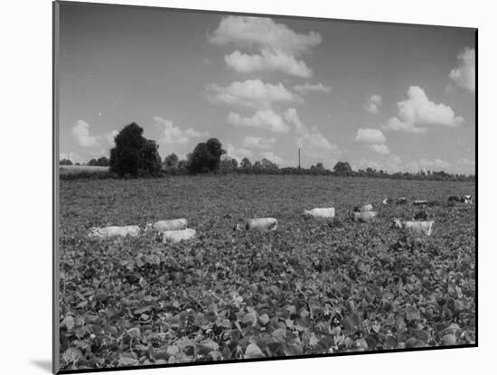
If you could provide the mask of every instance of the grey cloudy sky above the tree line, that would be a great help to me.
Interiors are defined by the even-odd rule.
[[[131,122],[184,158],[474,173],[475,31],[61,4],[60,151],[109,154]]]

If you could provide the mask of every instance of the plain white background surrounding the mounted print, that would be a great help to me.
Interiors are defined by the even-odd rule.
[[[106,1],[102,1],[106,2]],[[432,23],[479,28],[479,348],[263,361],[127,371],[168,374],[493,372],[497,356],[492,212],[495,209],[496,22],[492,2],[416,0],[163,0],[122,1],[193,9],[293,14],[342,19]],[[52,4],[10,0],[1,5],[0,97],[0,371],[49,373],[52,358]],[[6,117],[5,117],[6,114]],[[493,358],[492,358],[493,356]],[[491,370],[492,369],[492,370]],[[114,373],[114,372],[113,372]],[[123,373],[123,372],[120,372]],[[493,372],[494,373],[494,372]]]

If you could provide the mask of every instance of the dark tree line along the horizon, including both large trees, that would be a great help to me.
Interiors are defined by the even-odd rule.
[[[263,158],[253,163],[244,157],[238,160],[226,155],[226,151],[217,138],[197,144],[185,159],[175,154],[167,155],[164,161],[158,153],[159,145],[152,139],[143,136],[144,129],[136,123],[124,127],[114,138],[114,147],[110,150],[110,158],[102,156],[91,159],[87,165],[108,166],[109,177],[159,177],[175,174],[196,173],[249,173],[249,174],[314,174],[350,177],[392,178],[410,180],[451,180],[474,181],[474,175],[445,173],[444,171],[420,171],[417,173],[387,173],[373,168],[353,171],[347,162],[338,162],[333,170],[317,163],[310,168],[283,167]],[[62,159],[61,165],[72,164]]]

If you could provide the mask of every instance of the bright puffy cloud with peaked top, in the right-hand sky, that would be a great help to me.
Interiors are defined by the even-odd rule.
[[[411,86],[408,89],[408,99],[397,103],[399,112],[383,126],[384,130],[399,130],[412,134],[422,134],[426,127],[417,125],[436,125],[442,127],[458,127],[464,118],[455,116],[454,110],[445,104],[430,101],[424,89]]]

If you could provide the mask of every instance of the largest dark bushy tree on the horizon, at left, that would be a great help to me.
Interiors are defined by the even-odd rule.
[[[144,129],[136,123],[124,127],[114,138],[110,150],[110,172],[118,176],[156,175],[160,172],[161,157],[155,141],[143,136]]]

